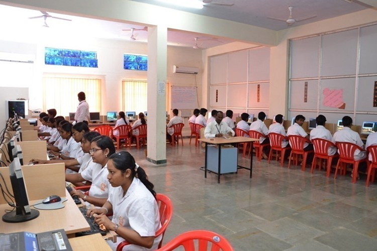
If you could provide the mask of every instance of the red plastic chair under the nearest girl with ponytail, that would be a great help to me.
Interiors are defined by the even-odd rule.
[[[160,212],[161,227],[156,231],[155,237],[162,235],[161,241],[158,244],[158,248],[160,248],[162,246],[162,239],[165,234],[166,228],[170,223],[171,217],[173,216],[173,203],[171,202],[169,197],[160,193],[156,194],[156,200]],[[118,244],[117,251],[122,251],[123,247],[129,244],[131,243],[127,240],[122,241]]]

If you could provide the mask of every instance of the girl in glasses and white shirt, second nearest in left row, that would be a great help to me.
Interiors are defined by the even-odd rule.
[[[89,165],[84,171],[77,174],[66,174],[65,180],[77,183],[85,180],[91,182],[89,194],[85,195],[80,190],[73,190],[71,195],[77,195],[87,203],[87,206],[93,204],[95,206],[103,206],[109,196],[109,180],[107,164],[109,157],[115,153],[113,140],[107,136],[98,136],[92,139],[89,150],[93,163],[97,165]]]

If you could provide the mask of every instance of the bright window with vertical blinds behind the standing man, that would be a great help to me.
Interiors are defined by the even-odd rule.
[[[101,111],[101,79],[43,77],[43,110],[55,108],[58,115],[68,116],[77,109],[80,91],[90,111]]]

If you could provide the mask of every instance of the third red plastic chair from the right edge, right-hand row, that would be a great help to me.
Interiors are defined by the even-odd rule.
[[[322,160],[326,160],[326,177],[330,177],[332,160],[334,158],[339,158],[339,154],[335,153],[334,155],[329,155],[328,152],[330,147],[336,148],[335,144],[331,141],[320,138],[313,139],[312,143],[314,146],[314,158],[311,173],[313,173],[314,169],[316,168],[317,159],[320,159],[319,170],[321,170],[322,167]]]

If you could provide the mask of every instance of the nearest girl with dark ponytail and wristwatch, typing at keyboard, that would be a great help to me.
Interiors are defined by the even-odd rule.
[[[154,237],[161,224],[153,184],[126,151],[110,156],[108,171],[113,187],[109,199],[102,208],[89,209],[87,216],[97,213],[96,222],[120,236],[116,243],[108,241],[114,250],[124,239],[132,244],[123,250],[156,250],[162,235]],[[113,213],[112,220],[108,213]]]

